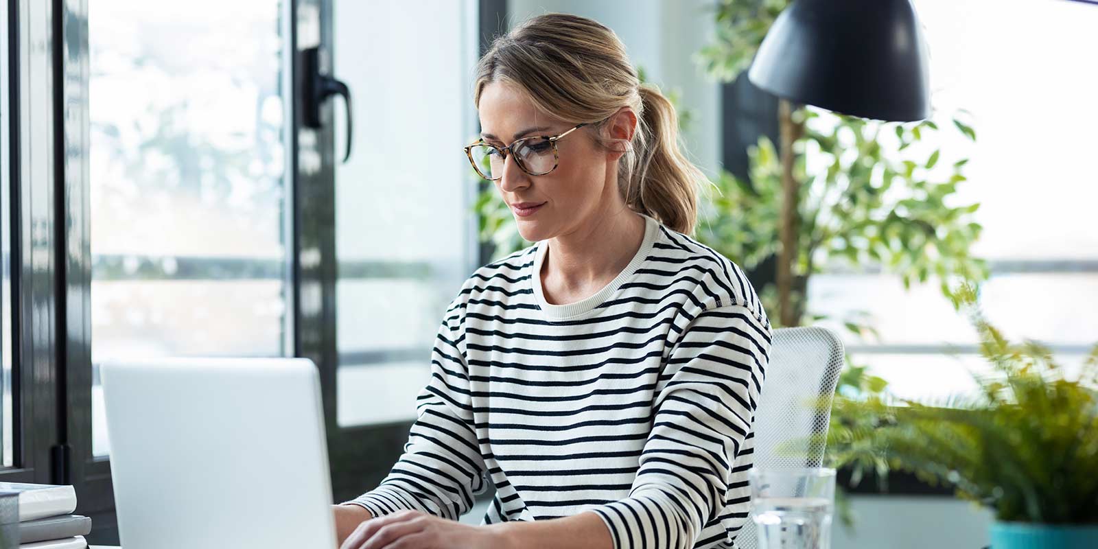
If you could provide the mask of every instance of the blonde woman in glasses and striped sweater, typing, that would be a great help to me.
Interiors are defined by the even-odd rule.
[[[467,147],[535,246],[451,302],[404,455],[335,506],[344,548],[731,547],[770,323],[686,236],[704,176],[671,103],[584,18],[480,60]],[[457,519],[490,485],[484,525]]]

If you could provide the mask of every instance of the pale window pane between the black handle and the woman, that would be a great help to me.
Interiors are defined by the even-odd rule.
[[[415,360],[340,363],[340,426],[415,418],[442,313],[477,267],[475,180],[462,152],[477,134],[475,2],[427,8],[429,16],[400,2],[334,1],[334,71],[355,102],[354,148],[343,164],[346,121],[335,101],[338,260],[432,269],[426,279],[338,279],[340,354],[423,349]]]

